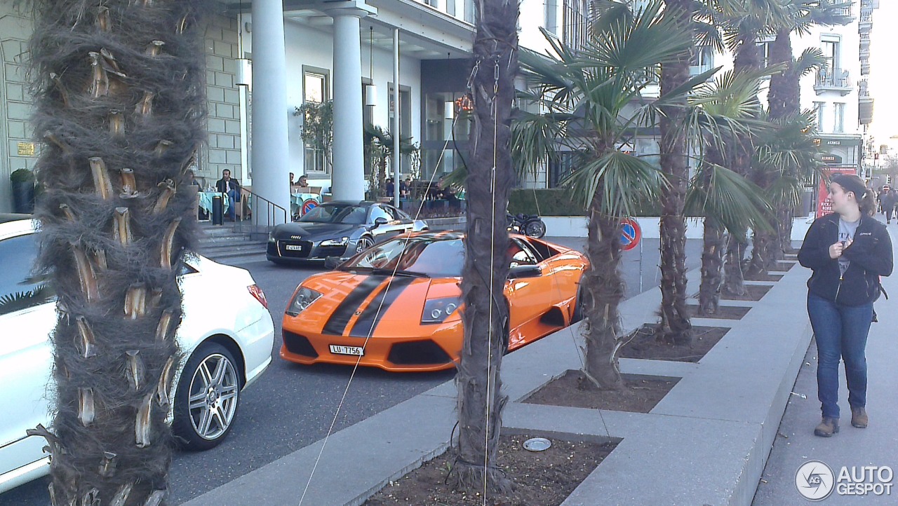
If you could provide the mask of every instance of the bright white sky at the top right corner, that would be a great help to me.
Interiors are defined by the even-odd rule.
[[[873,11],[870,32],[870,75],[868,83],[873,95],[873,123],[870,134],[876,145],[890,144],[898,148],[898,0],[881,0]]]

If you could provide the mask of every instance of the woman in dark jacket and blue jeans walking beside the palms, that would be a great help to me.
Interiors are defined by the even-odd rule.
[[[867,334],[879,276],[892,274],[892,240],[876,214],[876,200],[857,176],[835,174],[832,214],[817,218],[798,251],[814,274],[807,282],[807,314],[817,342],[817,398],[823,418],[814,434],[839,432],[839,361],[845,362],[851,425],[866,428]]]

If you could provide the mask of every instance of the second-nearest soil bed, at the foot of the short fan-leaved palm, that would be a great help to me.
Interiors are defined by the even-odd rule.
[[[583,371],[568,370],[522,402],[648,413],[680,380],[629,374],[624,374],[623,379],[624,387],[620,390],[604,390],[586,379]]]

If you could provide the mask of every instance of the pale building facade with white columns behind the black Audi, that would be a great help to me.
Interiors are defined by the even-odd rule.
[[[522,46],[547,48],[541,28],[582,43],[587,9],[585,0],[524,0]],[[402,177],[451,172],[462,162],[469,126],[447,109],[468,92],[474,16],[473,0],[214,4],[205,37],[208,141],[198,155],[198,179],[214,184],[231,170],[244,186],[287,208],[290,172],[333,188],[336,197],[361,197],[372,179],[362,126],[392,132],[397,109],[401,135],[420,146],[417,156],[403,156]],[[282,38],[272,35],[278,31]],[[33,169],[40,153],[29,126],[30,37],[27,11],[0,0],[0,212],[12,210],[9,175]],[[251,77],[243,72],[247,65]],[[334,139],[325,154],[304,142],[298,109],[330,100]]]

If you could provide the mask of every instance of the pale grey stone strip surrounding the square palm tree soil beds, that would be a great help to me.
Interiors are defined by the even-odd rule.
[[[698,271],[689,277],[695,290]],[[621,440],[565,505],[750,504],[810,342],[800,304],[806,277],[793,266],[762,301],[725,301],[753,308],[741,320],[696,318],[695,325],[732,327],[698,363],[621,360],[624,373],[682,378],[648,414],[519,402],[579,367],[577,332],[565,329],[511,353],[502,367],[510,399],[504,426]],[[656,321],[659,301],[658,289],[625,301],[623,327]],[[360,504],[446,448],[455,395],[446,382],[333,434],[323,452],[319,441],[187,504]]]

